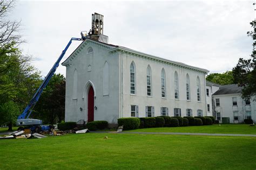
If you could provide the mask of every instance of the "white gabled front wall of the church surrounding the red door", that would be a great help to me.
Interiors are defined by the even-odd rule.
[[[87,54],[92,47],[93,53]],[[119,117],[119,72],[118,53],[107,52],[109,48],[91,40],[86,40],[71,54],[69,65],[66,65],[66,98],[65,121],[87,121],[87,93],[90,84],[95,90],[94,120],[105,120],[117,123]],[[73,59],[72,59],[73,58]],[[103,95],[103,68],[107,61],[109,65],[109,95]],[[88,65],[91,71],[88,72]],[[72,97],[73,73],[77,70],[77,98]],[[83,110],[80,111],[80,108]]]

